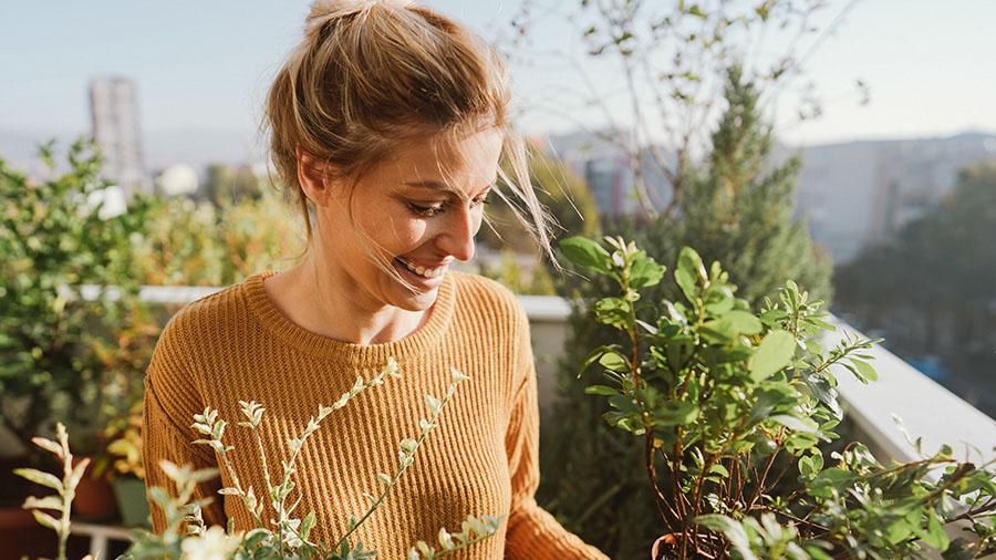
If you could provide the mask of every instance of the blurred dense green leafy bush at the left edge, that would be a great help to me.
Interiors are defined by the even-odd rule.
[[[134,267],[145,221],[144,208],[102,217],[108,185],[93,144],[70,146],[64,172],[54,143],[40,157],[41,182],[0,160],[0,422],[25,446],[51,432],[53,417],[96,433],[113,396],[94,349],[141,308]],[[97,288],[94,297],[83,284]]]

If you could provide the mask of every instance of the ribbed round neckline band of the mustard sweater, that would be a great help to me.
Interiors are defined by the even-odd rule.
[[[407,336],[378,344],[355,344],[329,339],[294,324],[273,305],[263,288],[263,280],[277,273],[277,271],[260,272],[246,279],[242,292],[249,308],[260,323],[280,341],[320,360],[353,366],[382,366],[392,356],[401,361],[436,346],[453,320],[456,294],[453,274],[447,272],[439,286],[428,320]]]

